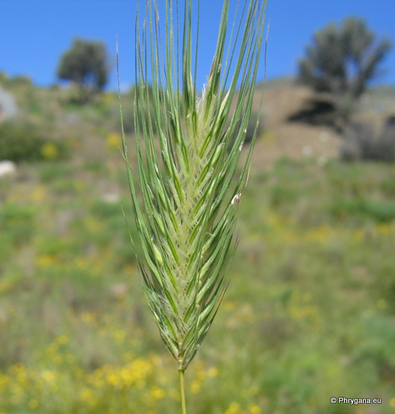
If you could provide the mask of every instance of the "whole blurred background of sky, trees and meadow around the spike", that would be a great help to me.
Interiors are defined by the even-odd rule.
[[[180,412],[128,234],[114,63],[118,33],[133,164],[135,5],[1,5],[0,414]],[[269,1],[238,248],[189,412],[395,413],[394,7]],[[218,30],[202,26],[198,86]]]

